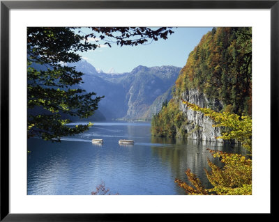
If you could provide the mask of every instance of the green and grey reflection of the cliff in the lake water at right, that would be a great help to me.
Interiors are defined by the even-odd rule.
[[[239,145],[223,144],[223,143],[210,143],[207,141],[196,141],[196,140],[186,140],[178,138],[165,138],[152,136],[151,143],[163,143],[172,144],[172,146],[166,146],[163,148],[158,148],[156,146],[151,146],[154,155],[158,155],[163,161],[163,164],[168,166],[169,171],[172,171],[173,178],[183,180],[185,182],[190,182],[186,178],[185,171],[187,168],[197,175],[199,180],[206,188],[210,188],[211,184],[207,180],[204,168],[210,170],[207,164],[207,158],[221,167],[222,163],[218,158],[213,158],[209,150],[220,150],[229,153],[241,153],[244,150]],[[179,193],[183,193],[183,189],[177,186]]]

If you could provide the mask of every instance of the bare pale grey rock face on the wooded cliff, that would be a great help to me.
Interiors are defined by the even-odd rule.
[[[214,111],[220,111],[223,109],[221,101],[209,100],[204,93],[199,93],[197,89],[186,90],[181,96],[183,100],[197,104],[202,108],[210,108]],[[212,127],[214,122],[211,118],[204,116],[204,113],[188,109],[186,104],[183,104],[182,101],[180,101],[179,108],[185,113],[188,120],[187,124],[183,126],[187,138],[202,141],[223,142],[222,139],[216,139],[217,136],[221,136],[221,129],[220,127]]]

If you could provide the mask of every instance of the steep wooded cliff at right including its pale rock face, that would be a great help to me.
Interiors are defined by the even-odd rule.
[[[250,116],[252,113],[252,29],[213,28],[190,52],[176,80],[172,100],[153,117],[156,136],[221,141],[211,118],[189,109],[181,98],[202,108]]]

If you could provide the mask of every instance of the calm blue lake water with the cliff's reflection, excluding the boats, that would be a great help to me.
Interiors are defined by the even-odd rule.
[[[94,145],[92,138],[103,138],[103,145]],[[119,139],[131,139],[135,145],[119,145]],[[102,182],[111,194],[184,194],[174,180],[186,181],[187,168],[209,187],[207,157],[220,164],[206,148],[243,152],[232,145],[152,137],[150,123],[145,122],[96,122],[89,131],[62,138],[61,143],[32,138],[27,194],[89,195]]]

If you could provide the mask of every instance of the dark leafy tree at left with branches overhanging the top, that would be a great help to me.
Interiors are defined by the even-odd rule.
[[[79,134],[89,125],[69,127],[69,116],[87,118],[98,109],[103,98],[86,93],[78,87],[82,72],[64,65],[80,61],[77,51],[94,50],[100,39],[112,47],[137,46],[158,38],[167,39],[171,28],[146,27],[91,27],[91,33],[81,35],[78,28],[29,27],[27,28],[27,136],[45,140]],[[78,31],[78,34],[77,34]],[[110,39],[107,39],[110,38]]]

